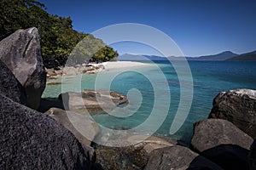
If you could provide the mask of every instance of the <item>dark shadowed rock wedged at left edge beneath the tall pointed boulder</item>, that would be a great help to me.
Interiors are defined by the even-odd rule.
[[[26,105],[26,93],[9,68],[0,60],[0,94]]]

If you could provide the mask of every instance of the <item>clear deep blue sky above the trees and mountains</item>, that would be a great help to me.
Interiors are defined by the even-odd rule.
[[[138,23],[165,32],[187,56],[256,50],[255,0],[39,1],[49,14],[70,16],[73,28],[84,33],[119,23]],[[112,47],[119,54],[158,54],[134,42]]]

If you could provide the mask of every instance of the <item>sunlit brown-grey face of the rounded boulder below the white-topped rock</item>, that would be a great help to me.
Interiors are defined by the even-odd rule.
[[[219,144],[236,144],[249,150],[253,139],[231,122],[222,119],[207,119],[194,123],[191,144],[200,152]]]

